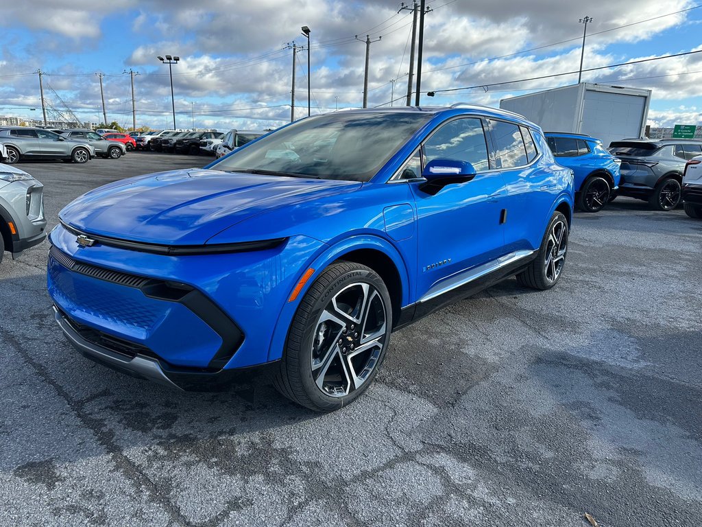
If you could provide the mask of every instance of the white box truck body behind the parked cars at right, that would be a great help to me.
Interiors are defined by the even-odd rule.
[[[500,101],[500,108],[524,115],[543,131],[588,134],[611,141],[644,136],[651,90],[572,84]]]

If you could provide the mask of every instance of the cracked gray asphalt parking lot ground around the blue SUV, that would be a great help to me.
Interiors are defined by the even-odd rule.
[[[22,163],[49,227],[81,193],[211,158]],[[317,415],[265,377],[180,393],[53,321],[48,244],[0,264],[1,526],[702,525],[702,221],[576,214],[559,285],[514,279],[393,335]]]

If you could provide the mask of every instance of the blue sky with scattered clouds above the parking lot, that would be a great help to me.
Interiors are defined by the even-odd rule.
[[[405,0],[408,1],[408,0]],[[411,1],[411,0],[410,0]],[[585,15],[585,69],[702,50],[702,6],[687,0],[436,0],[427,2],[421,102],[501,98],[577,82]],[[4,1],[0,18],[0,114],[41,117],[39,79],[53,108],[131,126],[134,70],[137,126],[170,128],[168,66],[178,127],[265,129],[290,120],[293,42],[296,117],[307,115],[307,39],[312,30],[312,113],[359,108],[370,35],[369,106],[404,104],[411,11],[386,0],[24,0]],[[382,38],[381,38],[382,37]],[[702,53],[583,73],[583,81],[653,90],[652,126],[700,124]],[[470,86],[484,86],[470,88]],[[468,87],[459,91],[426,91]],[[30,110],[36,108],[36,110]],[[51,117],[50,117],[51,118]]]

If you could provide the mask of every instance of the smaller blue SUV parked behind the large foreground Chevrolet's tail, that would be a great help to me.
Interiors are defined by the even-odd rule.
[[[590,136],[557,132],[544,135],[556,161],[574,172],[578,209],[600,212],[618,189],[621,160],[605,150],[602,141]]]

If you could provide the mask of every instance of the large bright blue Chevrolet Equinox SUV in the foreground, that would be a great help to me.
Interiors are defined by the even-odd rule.
[[[393,330],[512,275],[555,285],[573,200],[510,112],[334,112],[79,197],[51,232],[48,291],[99,363],[197,390],[270,365],[285,396],[335,410]]]

